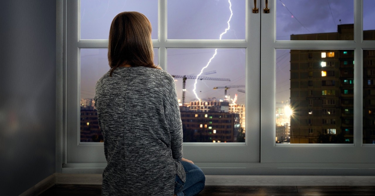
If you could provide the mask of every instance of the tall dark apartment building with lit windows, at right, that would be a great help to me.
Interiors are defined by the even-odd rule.
[[[353,40],[353,31],[353,24],[338,25],[335,33],[291,35],[291,40]],[[374,35],[373,32],[364,34]],[[367,138],[374,140],[372,52],[367,52],[363,59],[364,142]],[[290,142],[353,143],[354,50],[291,50],[290,58],[290,99],[294,111]]]

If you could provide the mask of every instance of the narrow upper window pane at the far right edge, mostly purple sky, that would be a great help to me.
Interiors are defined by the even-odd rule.
[[[375,40],[374,10],[374,0],[363,0],[363,40]]]

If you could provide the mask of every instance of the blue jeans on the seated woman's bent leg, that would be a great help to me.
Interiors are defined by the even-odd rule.
[[[181,161],[181,164],[184,166],[186,173],[186,181],[183,183],[176,175],[176,183],[174,185],[174,194],[177,196],[194,196],[198,195],[201,190],[204,188],[204,182],[206,178],[198,166]]]

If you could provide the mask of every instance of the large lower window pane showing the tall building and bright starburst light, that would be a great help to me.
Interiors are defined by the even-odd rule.
[[[354,50],[276,51],[276,143],[353,143],[353,60]]]

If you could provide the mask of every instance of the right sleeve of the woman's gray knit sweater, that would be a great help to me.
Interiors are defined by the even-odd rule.
[[[182,122],[180,115],[180,106],[178,106],[176,85],[172,76],[167,80],[166,96],[164,99],[164,115],[171,135],[171,150],[173,159],[181,160],[183,157],[182,143]]]

